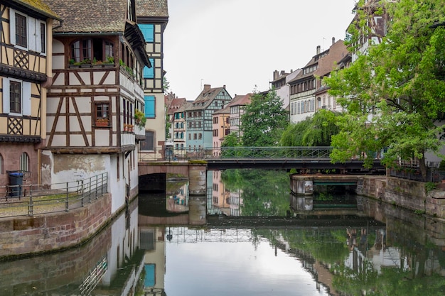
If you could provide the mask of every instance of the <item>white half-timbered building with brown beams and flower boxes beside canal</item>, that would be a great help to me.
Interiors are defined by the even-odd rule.
[[[63,21],[53,27],[48,89],[47,183],[108,172],[112,212],[137,193],[137,137],[144,126],[143,69],[151,67],[135,0],[45,0]]]

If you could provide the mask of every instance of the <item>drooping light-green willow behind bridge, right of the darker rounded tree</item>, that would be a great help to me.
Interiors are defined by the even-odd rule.
[[[297,124],[290,124],[280,140],[281,146],[331,146],[331,136],[338,133],[338,112],[317,111]]]

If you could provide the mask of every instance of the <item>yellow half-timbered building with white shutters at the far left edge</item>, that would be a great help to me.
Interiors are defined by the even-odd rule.
[[[51,32],[60,18],[40,0],[0,1],[0,185],[39,181]],[[14,177],[15,178],[15,177]]]

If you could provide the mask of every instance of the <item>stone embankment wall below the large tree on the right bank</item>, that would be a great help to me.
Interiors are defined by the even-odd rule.
[[[361,194],[404,209],[445,218],[445,190],[427,190],[427,183],[396,177],[363,177]]]

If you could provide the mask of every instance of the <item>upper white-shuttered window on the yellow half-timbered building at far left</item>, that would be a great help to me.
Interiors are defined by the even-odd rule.
[[[10,9],[11,43],[19,48],[46,53],[46,23]]]

